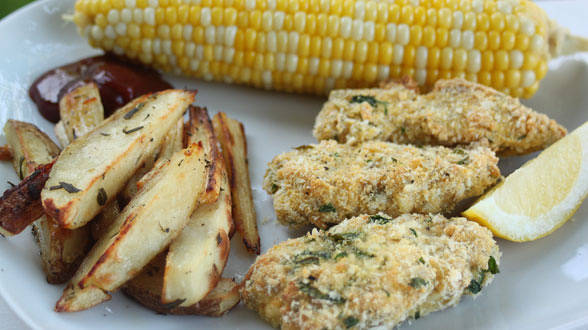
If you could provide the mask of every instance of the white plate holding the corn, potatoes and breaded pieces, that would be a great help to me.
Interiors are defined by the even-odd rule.
[[[37,124],[53,135],[27,96],[29,84],[42,72],[98,53],[87,46],[72,24],[61,20],[73,0],[39,1],[0,22],[0,125],[14,118]],[[586,2],[542,2],[550,15],[588,36]],[[527,103],[557,119],[568,129],[588,120],[588,65],[586,57],[558,60],[537,96]],[[324,99],[260,91],[201,81],[167,77],[177,87],[198,88],[197,103],[219,110],[245,124],[251,180],[261,227],[262,250],[297,233],[276,224],[271,200],[261,190],[266,163],[293,146],[312,143],[314,116]],[[0,136],[0,144],[4,143]],[[504,173],[526,158],[501,163]],[[16,175],[7,162],[0,163],[0,189]],[[554,234],[536,242],[516,244],[499,240],[503,253],[501,273],[475,301],[464,298],[456,308],[433,313],[411,329],[537,329],[588,326],[588,205],[584,205]],[[225,276],[240,280],[254,258],[247,255],[236,235]],[[157,315],[121,294],[89,311],[53,312],[61,286],[49,285],[41,271],[38,251],[27,232],[0,239],[0,293],[14,312],[38,329],[186,329],[267,328],[242,305],[216,319]],[[1,326],[0,326],[1,327]]]

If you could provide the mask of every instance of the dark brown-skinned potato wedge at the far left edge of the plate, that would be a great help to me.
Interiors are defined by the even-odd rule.
[[[49,178],[53,163],[40,165],[18,185],[0,197],[0,234],[12,236],[22,232],[44,214],[41,189]]]

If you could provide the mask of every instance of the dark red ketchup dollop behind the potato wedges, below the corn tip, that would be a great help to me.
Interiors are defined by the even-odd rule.
[[[41,115],[56,123],[61,97],[90,82],[96,83],[100,90],[105,116],[141,95],[172,88],[156,71],[107,54],[44,73],[31,85],[29,96]]]

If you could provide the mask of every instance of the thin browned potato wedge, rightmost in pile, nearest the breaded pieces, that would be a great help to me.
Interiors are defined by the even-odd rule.
[[[243,238],[247,251],[259,254],[259,232],[249,179],[247,141],[243,124],[227,117],[223,112],[217,113],[212,123],[229,174],[235,226]]]

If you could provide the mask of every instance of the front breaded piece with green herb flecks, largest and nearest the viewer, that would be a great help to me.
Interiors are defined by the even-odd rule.
[[[478,294],[499,258],[492,233],[464,218],[361,215],[272,247],[241,296],[282,329],[389,329]]]

